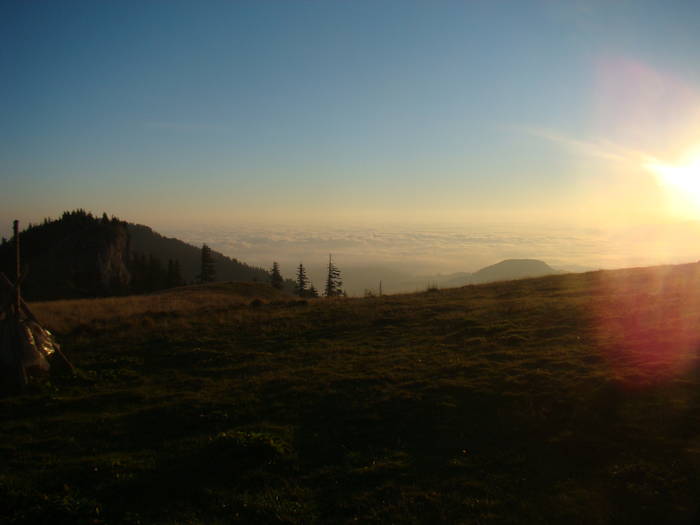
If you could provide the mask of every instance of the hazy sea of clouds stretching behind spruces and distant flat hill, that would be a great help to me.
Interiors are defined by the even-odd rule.
[[[328,255],[353,294],[417,289],[421,276],[473,272],[503,259],[539,259],[568,271],[689,262],[700,253],[697,223],[603,231],[576,228],[426,227],[323,228],[237,226],[161,230],[194,245],[206,243],[238,260],[293,277],[303,263],[317,287]]]

